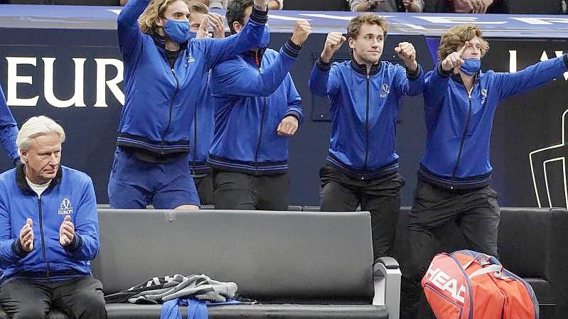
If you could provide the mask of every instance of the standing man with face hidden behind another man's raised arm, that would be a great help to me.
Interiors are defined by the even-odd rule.
[[[243,32],[251,7],[252,0],[231,1],[227,23],[232,33]],[[265,33],[259,48],[213,68],[215,132],[208,161],[216,208],[287,209],[289,136],[303,116],[288,72],[310,33],[309,22],[297,20],[279,52],[266,48]]]

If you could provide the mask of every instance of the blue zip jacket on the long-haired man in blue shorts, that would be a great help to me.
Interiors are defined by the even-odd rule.
[[[124,94],[117,145],[156,154],[188,153],[189,126],[205,73],[220,61],[258,46],[267,12],[252,9],[242,32],[223,39],[191,39],[181,45],[173,69],[165,49],[142,33],[137,19],[149,0],[130,0],[118,17],[124,60]]]

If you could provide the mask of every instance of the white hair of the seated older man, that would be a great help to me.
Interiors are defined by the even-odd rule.
[[[38,136],[48,134],[58,134],[61,143],[65,141],[65,131],[63,127],[55,123],[53,119],[41,115],[40,117],[31,117],[23,123],[16,139],[18,145],[18,153],[29,151],[31,148],[31,141]]]

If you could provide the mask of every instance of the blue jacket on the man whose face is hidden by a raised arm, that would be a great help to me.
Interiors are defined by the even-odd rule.
[[[215,133],[213,168],[254,174],[284,173],[288,136],[277,127],[289,115],[301,123],[301,98],[289,75],[300,47],[288,40],[279,52],[248,53],[219,63],[211,73]],[[257,62],[260,62],[260,67]]]

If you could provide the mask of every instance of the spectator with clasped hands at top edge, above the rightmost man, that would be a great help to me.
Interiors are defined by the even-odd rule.
[[[508,0],[438,0],[436,12],[509,13]]]

